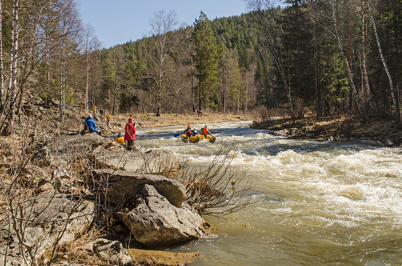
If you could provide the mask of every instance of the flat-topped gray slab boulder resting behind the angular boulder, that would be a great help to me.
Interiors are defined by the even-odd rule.
[[[136,194],[145,184],[154,186],[176,207],[180,207],[186,198],[186,189],[183,184],[160,175],[109,169],[92,170],[91,173],[93,185],[99,193],[100,200],[107,203],[118,204],[122,199]]]

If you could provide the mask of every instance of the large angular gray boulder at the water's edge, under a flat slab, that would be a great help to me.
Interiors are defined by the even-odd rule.
[[[209,224],[188,207],[175,207],[151,185],[144,185],[115,213],[133,238],[146,247],[171,246],[200,238]]]

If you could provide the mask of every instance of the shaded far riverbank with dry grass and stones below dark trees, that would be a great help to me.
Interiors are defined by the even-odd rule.
[[[312,138],[331,141],[355,141],[371,146],[400,146],[402,144],[402,125],[395,121],[370,120],[359,122],[354,119],[314,118],[297,121],[272,119],[253,122],[252,128],[270,130],[270,134],[289,138]]]

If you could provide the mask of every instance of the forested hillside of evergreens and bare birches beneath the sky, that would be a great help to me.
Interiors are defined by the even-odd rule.
[[[157,116],[265,106],[401,121],[401,0],[244,3],[247,14],[201,11],[179,28],[174,11],[156,11],[148,37],[102,49],[74,0],[0,1],[1,130],[28,98],[57,99],[60,116],[73,106]]]

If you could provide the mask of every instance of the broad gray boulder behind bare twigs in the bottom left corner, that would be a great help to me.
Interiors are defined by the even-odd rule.
[[[31,265],[54,244],[74,240],[92,223],[94,203],[43,193],[14,211],[0,227],[0,260],[5,265]],[[14,222],[15,221],[15,222]],[[14,229],[15,228],[15,229]]]

